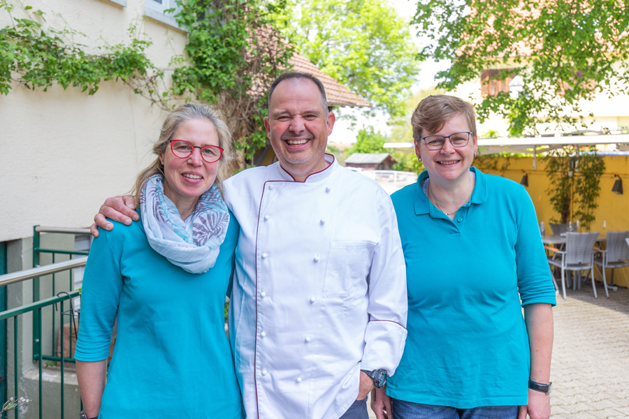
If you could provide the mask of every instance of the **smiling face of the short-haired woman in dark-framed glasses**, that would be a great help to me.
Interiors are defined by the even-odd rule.
[[[463,133],[472,131],[465,116],[458,114],[435,133],[422,132],[421,137],[428,135],[442,135],[447,137],[454,133]],[[477,151],[477,138],[470,134],[470,141],[465,147],[453,147],[451,142],[446,138],[443,148],[440,150],[429,150],[426,147],[425,140],[415,142],[415,154],[421,159],[424,167],[428,170],[431,180],[456,181],[462,176],[467,175],[474,160],[474,154]]]

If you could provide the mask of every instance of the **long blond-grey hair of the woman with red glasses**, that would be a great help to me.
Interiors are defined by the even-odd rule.
[[[168,148],[168,143],[173,139],[173,135],[178,128],[191,119],[201,119],[211,122],[219,138],[219,147],[223,149],[223,155],[219,160],[219,169],[216,174],[214,184],[218,186],[219,191],[223,195],[223,181],[228,177],[226,170],[227,165],[222,164],[226,161],[234,159],[233,137],[226,123],[226,118],[221,110],[217,110],[208,105],[195,103],[187,103],[169,113],[161,126],[159,138],[153,145],[153,154],[157,154],[157,159],[150,166],[140,172],[136,178],[136,186],[133,187],[131,193],[136,198],[136,207],[140,207],[140,191],[145,182],[154,175],[164,177],[164,165],[159,160],[159,155],[164,154]]]

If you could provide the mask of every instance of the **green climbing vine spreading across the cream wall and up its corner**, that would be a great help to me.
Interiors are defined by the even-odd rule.
[[[0,12],[10,24],[0,29],[0,94],[13,84],[47,91],[53,84],[78,87],[93,95],[106,80],[122,81],[133,92],[160,108],[172,108],[173,99],[191,94],[226,112],[236,149],[252,160],[266,146],[263,118],[271,82],[289,68],[293,49],[280,37],[273,19],[283,13],[284,0],[177,0],[175,15],[188,33],[185,54],[171,59],[176,66],[170,87],[164,71],[152,64],[145,50],[152,43],[129,28],[129,41],[99,47],[101,54],[85,52],[74,38],[84,36],[68,27],[45,24],[45,13],[19,0],[0,0]],[[15,8],[20,15],[13,16]],[[175,10],[168,10],[174,13]]]

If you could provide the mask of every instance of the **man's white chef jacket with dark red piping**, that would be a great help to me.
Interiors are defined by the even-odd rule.
[[[331,163],[295,182],[280,163],[227,179],[240,223],[229,332],[247,418],[338,419],[360,370],[393,375],[406,270],[391,199]]]

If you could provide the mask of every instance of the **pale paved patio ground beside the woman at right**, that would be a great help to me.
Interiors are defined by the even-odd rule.
[[[629,418],[629,289],[596,292],[568,290],[554,308],[554,419]]]

